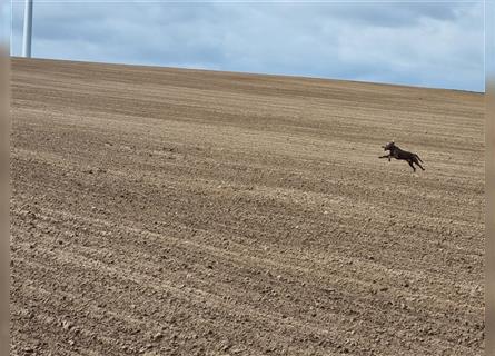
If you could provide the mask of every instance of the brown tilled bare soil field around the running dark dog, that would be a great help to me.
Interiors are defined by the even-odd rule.
[[[482,355],[483,100],[12,59],[11,354]]]

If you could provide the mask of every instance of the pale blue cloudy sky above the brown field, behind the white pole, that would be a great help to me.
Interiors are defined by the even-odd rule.
[[[21,55],[23,1],[10,49]],[[32,56],[485,90],[483,1],[37,1]]]

